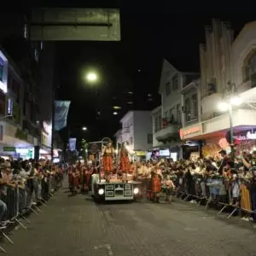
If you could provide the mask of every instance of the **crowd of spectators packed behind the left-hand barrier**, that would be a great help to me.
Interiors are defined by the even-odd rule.
[[[63,170],[49,160],[0,159],[0,227],[49,199],[61,187]]]

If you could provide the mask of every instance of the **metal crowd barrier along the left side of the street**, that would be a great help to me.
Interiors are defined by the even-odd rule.
[[[20,186],[15,188],[9,186],[2,187],[0,200],[6,204],[7,212],[3,216],[4,220],[2,219],[1,221],[9,222],[7,227],[0,228],[2,238],[4,237],[11,244],[14,244],[14,241],[7,235],[9,227],[18,224],[27,230],[26,224],[23,223],[23,220],[25,220],[27,224],[30,224],[29,219],[26,218],[26,214],[33,212],[38,215],[41,212],[38,205],[47,207],[47,201],[54,195],[56,190],[61,188],[61,183],[61,177],[49,176],[34,183],[33,189],[28,187],[22,188]],[[37,203],[33,203],[33,200],[37,201]],[[6,253],[3,247],[0,247],[0,250]]]

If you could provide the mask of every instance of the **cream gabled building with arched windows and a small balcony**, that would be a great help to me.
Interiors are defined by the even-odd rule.
[[[179,129],[198,120],[199,83],[193,81],[199,76],[177,70],[164,60],[159,89],[161,106],[152,112],[154,148],[168,148],[177,157],[182,156]]]

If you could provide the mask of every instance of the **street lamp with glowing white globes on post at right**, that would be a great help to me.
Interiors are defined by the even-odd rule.
[[[224,95],[227,97],[224,97]],[[236,94],[236,84],[228,83],[226,89],[224,90],[223,100],[219,102],[218,108],[220,111],[229,110],[230,114],[230,149],[231,149],[231,158],[234,160],[234,137],[233,137],[233,106],[240,106],[242,103],[241,97]]]

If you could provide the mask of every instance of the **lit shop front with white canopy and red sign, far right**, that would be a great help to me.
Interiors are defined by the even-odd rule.
[[[237,109],[233,111],[233,137],[236,154],[241,151],[252,151],[256,141],[256,111],[253,109]],[[201,142],[201,153],[204,157],[218,156],[221,149],[230,152],[228,143],[230,117],[228,113],[214,119],[208,119],[180,131],[183,140]]]

